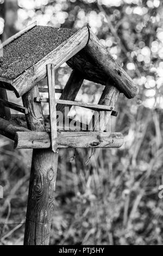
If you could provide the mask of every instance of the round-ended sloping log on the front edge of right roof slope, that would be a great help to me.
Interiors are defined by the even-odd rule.
[[[135,97],[139,93],[139,88],[135,86],[133,80],[101,44],[90,28],[89,32],[89,42],[85,47],[86,53],[105,71],[108,78],[114,81],[115,86],[121,93],[124,93],[129,99]]]

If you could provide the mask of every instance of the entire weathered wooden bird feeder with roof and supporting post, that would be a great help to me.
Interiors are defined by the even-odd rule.
[[[97,131],[65,131],[57,125],[57,111],[80,106],[117,115],[120,93],[129,99],[138,93],[131,78],[112,58],[89,27],[79,30],[30,25],[3,43],[0,67],[0,133],[15,142],[16,149],[34,149],[29,183],[25,245],[48,245],[60,148],[119,148],[121,133],[106,130],[103,117]],[[67,63],[71,76],[63,90],[55,88],[55,70]],[[47,77],[48,86],[37,83]],[[74,101],[83,80],[105,86],[98,105]],[[22,97],[23,107],[8,101],[7,90]],[[40,96],[48,93],[48,97]],[[61,93],[60,99],[55,98]],[[41,102],[49,104],[49,118]],[[11,115],[9,109],[21,112]]]

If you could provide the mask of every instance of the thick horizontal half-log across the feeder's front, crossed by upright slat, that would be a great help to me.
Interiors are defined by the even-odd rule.
[[[122,133],[110,132],[58,132],[58,148],[120,148]],[[17,132],[15,148],[43,149],[51,147],[48,132]]]

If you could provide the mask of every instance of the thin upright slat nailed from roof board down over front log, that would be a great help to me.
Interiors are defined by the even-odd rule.
[[[51,124],[51,146],[54,153],[57,152],[57,110],[55,107],[55,73],[54,65],[47,65],[49,114]]]

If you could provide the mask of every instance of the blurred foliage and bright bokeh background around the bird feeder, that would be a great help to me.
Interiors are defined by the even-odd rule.
[[[74,160],[73,150],[60,150],[51,244],[162,244],[162,1],[1,0],[0,9],[1,40],[34,21],[66,28],[89,25],[140,88],[136,99],[121,95],[118,100],[112,131],[124,134],[121,149],[96,149],[87,165],[90,150],[78,149]],[[68,74],[62,66],[61,88]],[[85,81],[78,100],[96,102],[102,90]],[[21,245],[32,152],[13,151],[4,137],[0,152],[0,243]]]

